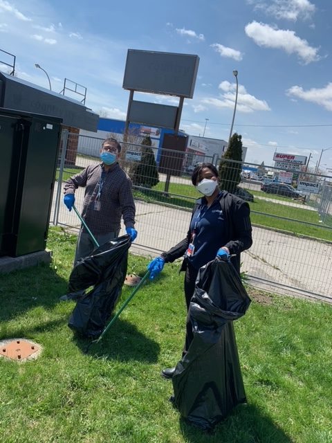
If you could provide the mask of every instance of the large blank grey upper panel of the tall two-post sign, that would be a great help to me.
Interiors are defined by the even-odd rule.
[[[192,98],[199,56],[128,49],[122,87]]]

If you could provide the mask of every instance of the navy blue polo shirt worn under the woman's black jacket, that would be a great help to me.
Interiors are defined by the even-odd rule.
[[[198,206],[190,224],[190,232],[194,234],[194,254],[188,257],[195,269],[214,260],[221,246],[227,243],[225,238],[225,216],[221,210],[219,197],[216,197],[208,208],[205,203]]]

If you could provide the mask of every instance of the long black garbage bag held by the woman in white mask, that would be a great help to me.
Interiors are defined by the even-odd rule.
[[[200,269],[188,312],[194,338],[172,382],[174,406],[205,431],[246,401],[232,320],[250,301],[230,262],[214,260]]]

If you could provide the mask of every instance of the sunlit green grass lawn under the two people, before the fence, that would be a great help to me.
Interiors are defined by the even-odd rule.
[[[75,242],[52,228],[50,266],[0,276],[1,339],[43,347],[35,361],[0,359],[1,443],[332,441],[331,305],[248,289],[252,304],[234,323],[248,404],[205,435],[181,419],[168,401],[172,382],[160,377],[183,346],[179,265],[147,282],[86,353],[88,342],[67,327],[74,303],[58,301]],[[128,272],[144,275],[148,261],[130,255]]]

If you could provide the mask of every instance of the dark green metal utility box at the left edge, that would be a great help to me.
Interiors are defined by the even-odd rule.
[[[0,255],[44,251],[61,118],[0,108]]]

